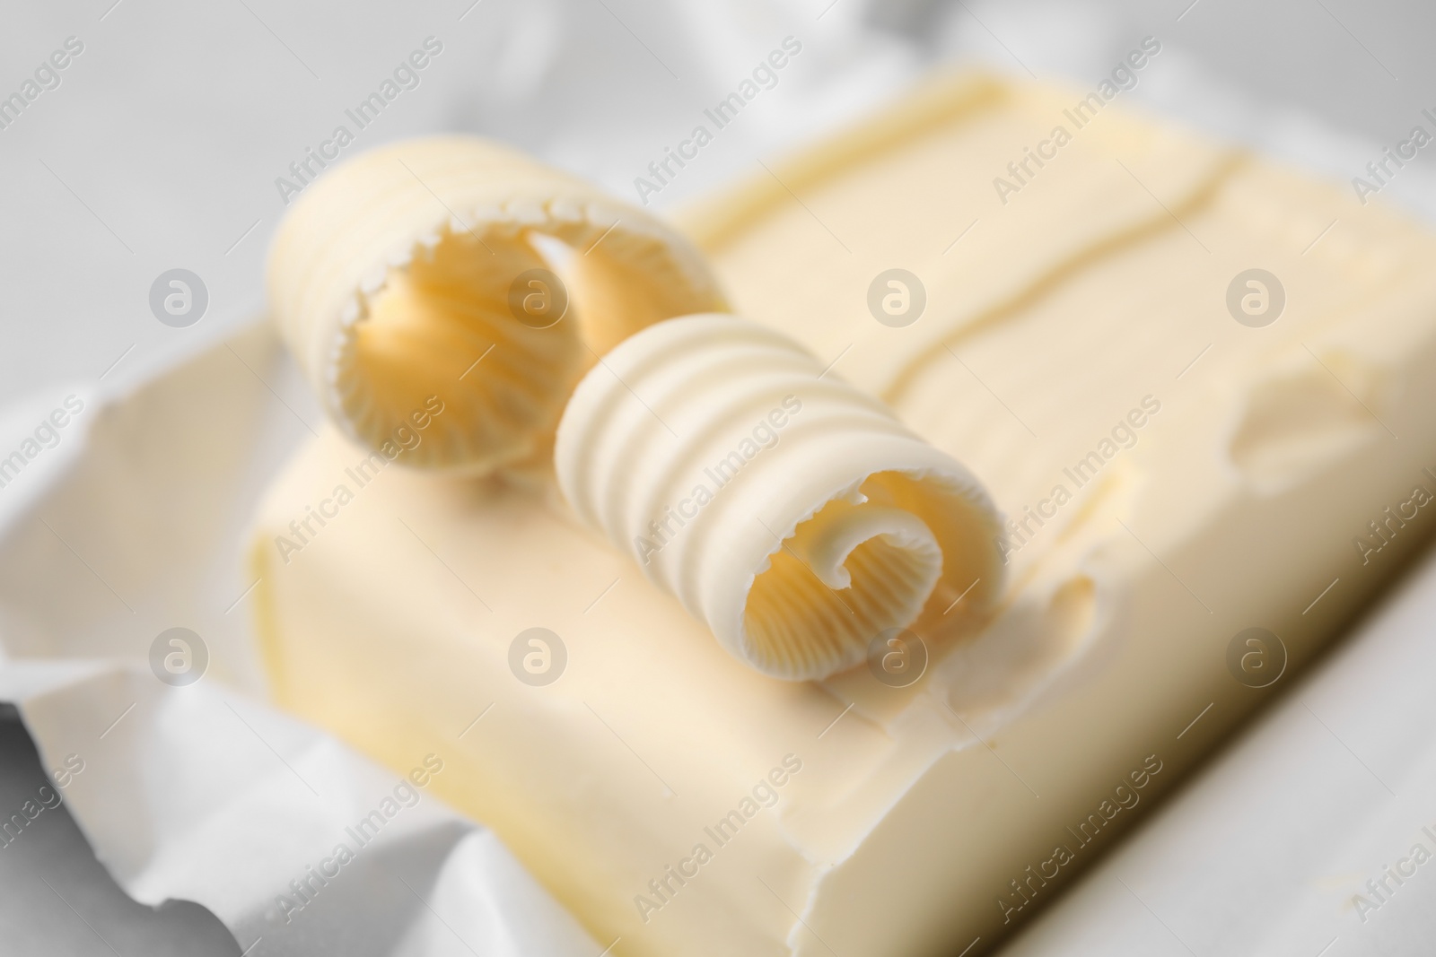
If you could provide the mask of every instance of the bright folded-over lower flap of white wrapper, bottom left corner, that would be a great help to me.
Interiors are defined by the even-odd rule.
[[[70,814],[138,901],[208,907],[253,954],[593,957],[491,831],[408,775],[217,683],[145,666],[7,663]],[[78,769],[78,770],[76,770]]]

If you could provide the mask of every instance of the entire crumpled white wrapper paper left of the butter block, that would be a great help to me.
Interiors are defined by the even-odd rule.
[[[593,957],[428,793],[442,755],[383,769],[261,702],[240,539],[306,420],[257,324],[129,395],[63,389],[0,423],[0,448],[36,452],[0,489],[0,700],[115,881],[205,905],[246,953]]]

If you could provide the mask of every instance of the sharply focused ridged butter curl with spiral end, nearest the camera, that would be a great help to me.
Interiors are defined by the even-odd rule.
[[[1001,593],[978,481],[742,319],[619,344],[569,400],[554,463],[574,511],[764,674],[827,677],[889,628],[951,638]]]

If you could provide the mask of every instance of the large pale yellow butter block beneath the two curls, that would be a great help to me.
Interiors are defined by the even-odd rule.
[[[551,486],[329,430],[256,525],[277,702],[392,768],[442,750],[613,954],[994,946],[1337,634],[1426,535],[1383,509],[1436,488],[1436,241],[1080,99],[943,79],[681,218],[740,313],[1008,517],[992,620],[918,682],[755,673]],[[910,324],[869,308],[893,268]],[[1265,690],[1229,666],[1254,627]]]

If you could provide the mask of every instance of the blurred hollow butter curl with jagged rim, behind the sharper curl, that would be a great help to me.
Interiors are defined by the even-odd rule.
[[[464,136],[325,172],[280,224],[269,296],[343,432],[383,449],[422,416],[429,439],[402,461],[468,472],[543,455],[574,383],[615,343],[724,308],[668,225]]]

